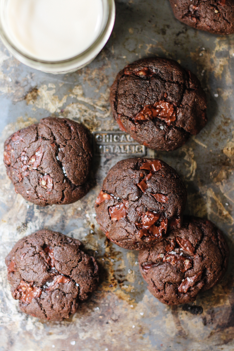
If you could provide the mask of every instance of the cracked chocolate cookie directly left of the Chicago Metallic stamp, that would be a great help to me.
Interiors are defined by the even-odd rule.
[[[92,151],[79,123],[48,117],[12,134],[4,163],[15,191],[34,204],[70,204],[89,190]]]

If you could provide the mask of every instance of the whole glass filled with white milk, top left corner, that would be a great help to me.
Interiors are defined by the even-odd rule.
[[[111,35],[114,0],[0,0],[0,37],[25,65],[48,73],[89,64]]]

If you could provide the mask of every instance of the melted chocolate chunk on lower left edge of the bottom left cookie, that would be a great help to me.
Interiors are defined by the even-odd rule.
[[[15,300],[21,300],[29,304],[33,298],[40,297],[41,292],[41,288],[33,286],[33,282],[28,284],[24,280],[21,280],[20,285],[14,291],[14,298]]]

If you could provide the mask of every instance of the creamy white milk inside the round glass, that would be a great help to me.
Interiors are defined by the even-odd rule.
[[[59,61],[91,46],[102,19],[102,0],[8,0],[5,31],[22,52]]]

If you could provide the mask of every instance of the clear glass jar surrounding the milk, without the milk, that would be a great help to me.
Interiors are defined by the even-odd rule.
[[[99,54],[103,46],[109,39],[115,21],[115,2],[114,0],[102,0],[103,19],[99,37],[95,42],[81,54],[62,61],[43,61],[37,60],[17,48],[7,35],[6,25],[6,5],[8,0],[0,0],[0,38],[7,47],[8,51],[23,64],[39,69],[46,73],[69,73],[88,65]],[[85,1],[85,0],[84,0]]]

